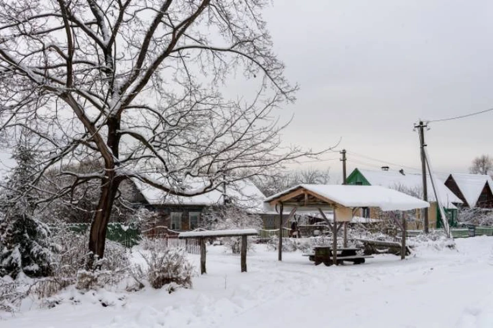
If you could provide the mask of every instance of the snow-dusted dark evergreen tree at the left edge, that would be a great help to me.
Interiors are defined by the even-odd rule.
[[[32,174],[35,154],[27,141],[14,151],[17,167],[0,197],[0,277],[12,278],[23,272],[29,277],[50,273],[49,230],[34,217],[35,193]]]

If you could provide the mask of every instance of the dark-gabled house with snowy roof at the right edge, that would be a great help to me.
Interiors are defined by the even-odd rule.
[[[467,208],[493,208],[493,180],[489,175],[452,173],[445,185]]]

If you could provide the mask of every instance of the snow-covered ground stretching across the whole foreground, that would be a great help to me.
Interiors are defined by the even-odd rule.
[[[457,251],[422,248],[404,261],[378,255],[339,267],[298,252],[278,262],[257,245],[248,273],[239,256],[211,246],[208,273],[191,290],[71,290],[52,309],[0,313],[0,327],[493,327],[493,237],[456,241]]]

